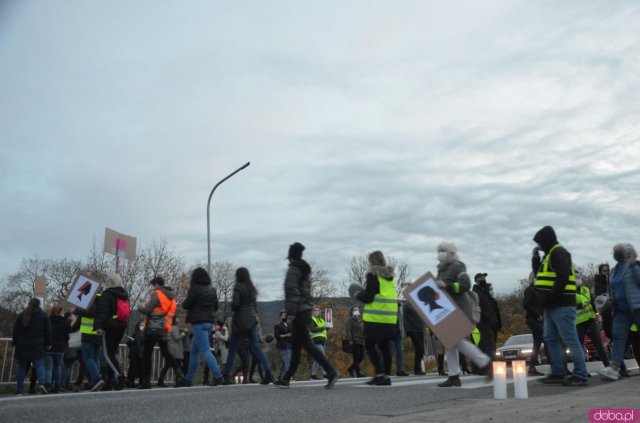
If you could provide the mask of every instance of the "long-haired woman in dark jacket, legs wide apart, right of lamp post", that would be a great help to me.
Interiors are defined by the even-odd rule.
[[[251,280],[249,270],[246,267],[238,268],[236,270],[236,284],[233,287],[233,301],[231,303],[233,319],[231,320],[229,355],[222,371],[222,377],[226,385],[231,383],[229,373],[233,368],[238,345],[243,338],[248,339],[251,353],[258,359],[265,372],[265,378],[260,383],[268,385],[274,380],[269,361],[260,348],[258,311],[256,309],[257,296],[258,290]],[[245,379],[247,378],[245,377]]]

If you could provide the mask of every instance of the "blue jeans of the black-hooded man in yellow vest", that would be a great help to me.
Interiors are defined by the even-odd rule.
[[[587,365],[584,350],[578,341],[576,330],[576,308],[571,306],[547,308],[544,310],[544,347],[551,361],[551,374],[564,376],[566,345],[573,358],[573,374],[587,379]]]

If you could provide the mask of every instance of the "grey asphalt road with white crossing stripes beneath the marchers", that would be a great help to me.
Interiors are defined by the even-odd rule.
[[[630,367],[635,363],[628,361]],[[601,363],[589,363],[595,372]],[[545,370],[547,366],[540,366]],[[635,370],[637,373],[637,370]],[[529,396],[562,395],[576,389],[547,386],[530,378]],[[324,381],[292,382],[288,390],[273,385],[154,388],[0,399],[0,421],[12,422],[325,422],[355,415],[397,416],[444,401],[491,399],[493,387],[481,376],[463,376],[462,388],[438,388],[435,375],[393,377],[391,387],[371,387],[368,379],[340,379],[334,389]],[[591,378],[591,386],[604,382]],[[512,385],[508,388],[513,396]]]

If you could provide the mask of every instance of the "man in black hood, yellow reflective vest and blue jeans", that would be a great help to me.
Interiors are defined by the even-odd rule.
[[[551,226],[540,229],[533,240],[531,264],[536,274],[534,288],[544,310],[544,345],[551,361],[551,374],[541,381],[565,386],[587,386],[587,366],[584,350],[576,330],[576,278],[571,254],[556,238]],[[544,251],[542,260],[540,251]],[[564,378],[565,357],[562,343],[573,357],[573,375]]]

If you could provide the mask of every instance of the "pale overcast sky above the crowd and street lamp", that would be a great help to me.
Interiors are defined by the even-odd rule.
[[[552,225],[578,265],[640,228],[636,1],[0,2],[0,275],[104,228],[281,295],[453,241],[509,292]],[[640,245],[637,245],[640,246]]]

